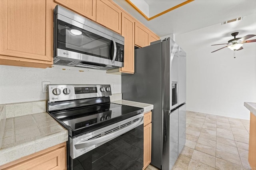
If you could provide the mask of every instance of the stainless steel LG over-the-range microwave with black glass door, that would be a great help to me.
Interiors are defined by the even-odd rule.
[[[124,37],[57,5],[54,64],[103,70],[123,67]]]

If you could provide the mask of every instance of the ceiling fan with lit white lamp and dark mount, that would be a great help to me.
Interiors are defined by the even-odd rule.
[[[243,43],[249,43],[249,42],[256,42],[256,39],[254,40],[247,40],[249,38],[252,38],[256,35],[253,35],[253,34],[249,34],[247,36],[244,36],[243,38],[236,38],[236,36],[238,35],[238,32],[234,32],[231,34],[231,36],[233,36],[234,38],[229,40],[228,43],[220,43],[220,44],[214,44],[214,45],[224,45],[224,44],[227,44],[225,47],[228,47],[229,49],[231,50],[234,50],[234,51],[238,51],[238,50],[241,50],[243,49]],[[225,47],[222,47],[220,49],[223,49]],[[212,51],[212,53],[220,50],[220,49],[216,49],[215,51]]]

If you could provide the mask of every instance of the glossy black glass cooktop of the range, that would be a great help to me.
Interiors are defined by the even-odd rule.
[[[143,109],[139,107],[107,103],[68,111],[56,111],[49,114],[68,129],[69,135],[73,138],[142,112]]]

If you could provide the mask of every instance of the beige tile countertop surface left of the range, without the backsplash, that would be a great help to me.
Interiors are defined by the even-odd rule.
[[[0,165],[67,140],[68,130],[46,112],[8,118],[0,148]]]

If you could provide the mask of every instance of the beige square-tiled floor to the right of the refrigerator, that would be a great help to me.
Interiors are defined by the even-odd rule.
[[[186,144],[172,170],[250,170],[249,128],[248,120],[187,111]]]

